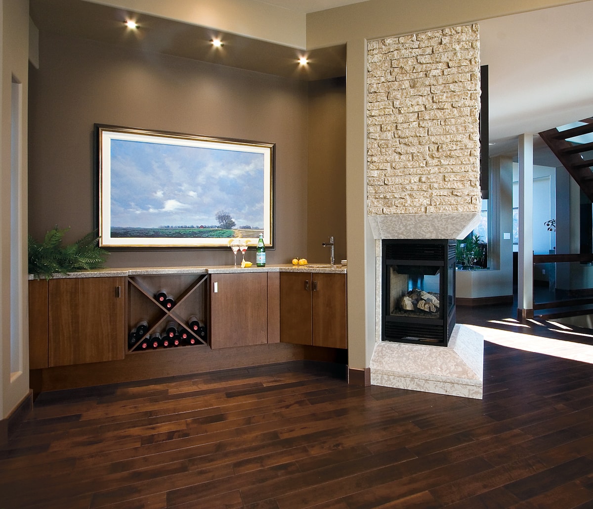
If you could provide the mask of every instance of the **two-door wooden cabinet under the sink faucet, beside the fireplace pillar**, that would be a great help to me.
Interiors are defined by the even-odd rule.
[[[345,274],[280,273],[280,341],[347,348]]]

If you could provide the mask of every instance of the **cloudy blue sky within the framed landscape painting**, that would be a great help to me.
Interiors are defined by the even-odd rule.
[[[217,225],[226,211],[237,227],[262,227],[264,155],[111,140],[111,225]]]

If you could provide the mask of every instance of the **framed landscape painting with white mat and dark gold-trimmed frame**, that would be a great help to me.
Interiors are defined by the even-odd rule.
[[[101,247],[273,246],[275,145],[95,125]]]

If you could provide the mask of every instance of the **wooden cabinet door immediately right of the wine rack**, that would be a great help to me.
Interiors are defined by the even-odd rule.
[[[267,343],[267,274],[212,274],[209,342],[212,349]]]

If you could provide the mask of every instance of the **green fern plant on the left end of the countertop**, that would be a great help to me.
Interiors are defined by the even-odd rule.
[[[58,225],[49,230],[43,242],[28,236],[28,271],[36,278],[50,279],[56,273],[88,271],[104,267],[109,252],[98,246],[97,230],[87,233],[74,244],[63,245],[70,228]]]

